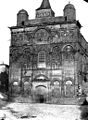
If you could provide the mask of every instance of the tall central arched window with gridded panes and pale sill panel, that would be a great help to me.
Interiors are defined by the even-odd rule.
[[[38,53],[38,67],[39,68],[46,67],[46,53],[45,53],[45,51],[40,51]]]

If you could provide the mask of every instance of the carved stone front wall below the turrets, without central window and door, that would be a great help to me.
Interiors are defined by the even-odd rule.
[[[49,18],[48,21],[50,20]],[[58,23],[58,20],[62,24]],[[37,85],[45,86],[49,81],[48,92],[44,97],[51,98],[77,96],[78,85],[82,85],[84,77],[85,57],[79,41],[78,27],[75,22],[64,23],[62,18],[52,18],[57,24],[42,24],[30,21],[31,26],[14,28],[11,31],[10,47],[10,82],[18,82],[12,92],[36,98]],[[44,21],[43,21],[44,22]],[[35,25],[34,25],[35,24]],[[34,25],[34,26],[33,26]],[[39,52],[45,52],[45,67],[39,68]],[[36,82],[44,76],[45,82]],[[45,90],[46,91],[46,90]],[[17,92],[16,92],[17,94]]]

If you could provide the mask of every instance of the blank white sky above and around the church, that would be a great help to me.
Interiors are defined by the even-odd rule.
[[[80,21],[81,33],[88,41],[88,3],[83,0],[49,0],[55,16],[63,16],[63,9],[70,1],[76,8],[76,19]],[[0,63],[9,64],[10,30],[8,27],[16,25],[16,15],[25,9],[29,19],[35,18],[35,9],[42,0],[0,0]]]

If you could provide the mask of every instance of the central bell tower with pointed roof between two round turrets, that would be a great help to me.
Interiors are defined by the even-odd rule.
[[[43,0],[41,6],[36,9],[36,18],[54,17],[54,15],[49,0]]]

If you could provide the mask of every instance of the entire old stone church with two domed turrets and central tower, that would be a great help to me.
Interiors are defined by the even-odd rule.
[[[49,0],[36,9],[35,19],[24,9],[10,27],[9,83],[12,96],[64,101],[85,92],[88,43],[80,33],[76,9],[67,4],[55,17]]]

